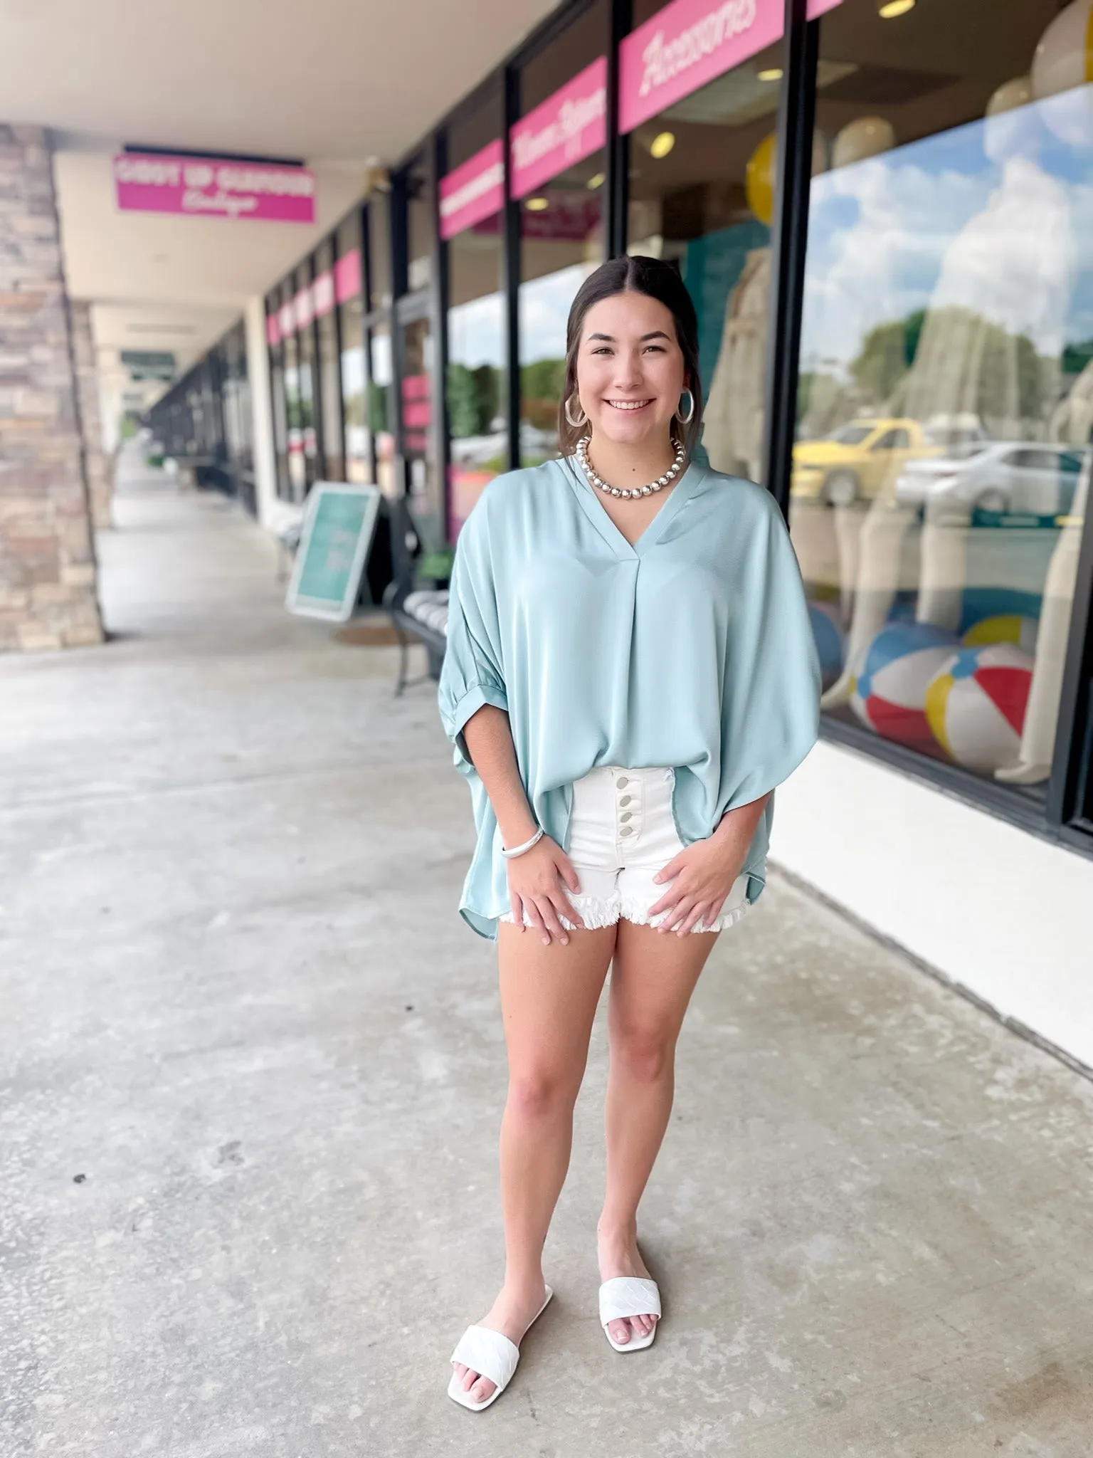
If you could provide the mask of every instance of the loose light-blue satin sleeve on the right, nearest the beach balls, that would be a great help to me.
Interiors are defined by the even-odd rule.
[[[727,644],[726,809],[749,805],[787,780],[819,735],[820,668],[804,585],[781,512],[761,494]]]

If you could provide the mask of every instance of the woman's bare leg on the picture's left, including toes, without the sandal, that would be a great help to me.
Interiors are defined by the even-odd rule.
[[[530,932],[498,927],[501,1015],[509,1051],[509,1098],[501,1118],[504,1286],[478,1325],[520,1343],[546,1295],[542,1248],[573,1146],[573,1105],[589,1057],[615,927],[570,932],[544,946]],[[494,1384],[456,1363],[478,1403]]]

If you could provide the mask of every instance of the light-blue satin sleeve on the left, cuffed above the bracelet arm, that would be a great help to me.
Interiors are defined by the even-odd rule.
[[[484,704],[509,709],[497,615],[490,535],[484,503],[463,523],[456,541],[447,598],[447,647],[437,685],[440,720],[455,744],[455,765],[474,773],[463,726]]]

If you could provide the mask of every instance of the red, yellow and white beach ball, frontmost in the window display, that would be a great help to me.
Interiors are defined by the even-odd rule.
[[[934,738],[969,770],[1016,764],[1033,658],[1014,643],[962,647],[931,679],[925,716]]]

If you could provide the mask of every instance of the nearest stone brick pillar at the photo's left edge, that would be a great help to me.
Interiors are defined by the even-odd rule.
[[[0,650],[102,640],[48,141],[0,124]]]

